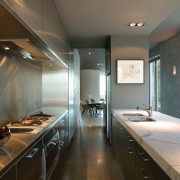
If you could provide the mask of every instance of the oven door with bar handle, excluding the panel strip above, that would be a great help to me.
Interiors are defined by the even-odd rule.
[[[50,178],[59,159],[59,151],[59,133],[56,132],[43,149],[43,179]]]

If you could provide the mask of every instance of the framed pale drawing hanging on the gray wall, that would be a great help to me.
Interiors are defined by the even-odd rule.
[[[117,84],[143,84],[144,60],[117,60]]]

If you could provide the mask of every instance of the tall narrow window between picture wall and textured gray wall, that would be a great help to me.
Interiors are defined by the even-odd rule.
[[[156,56],[150,60],[150,105],[154,111],[161,109],[161,93],[160,93],[160,56]]]

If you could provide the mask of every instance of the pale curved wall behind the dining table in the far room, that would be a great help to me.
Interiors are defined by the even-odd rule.
[[[100,98],[99,88],[100,71],[92,69],[83,69],[80,71],[80,99],[95,99]]]

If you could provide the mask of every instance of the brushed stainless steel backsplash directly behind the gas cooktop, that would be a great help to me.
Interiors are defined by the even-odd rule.
[[[42,68],[0,51],[0,125],[41,106]]]

